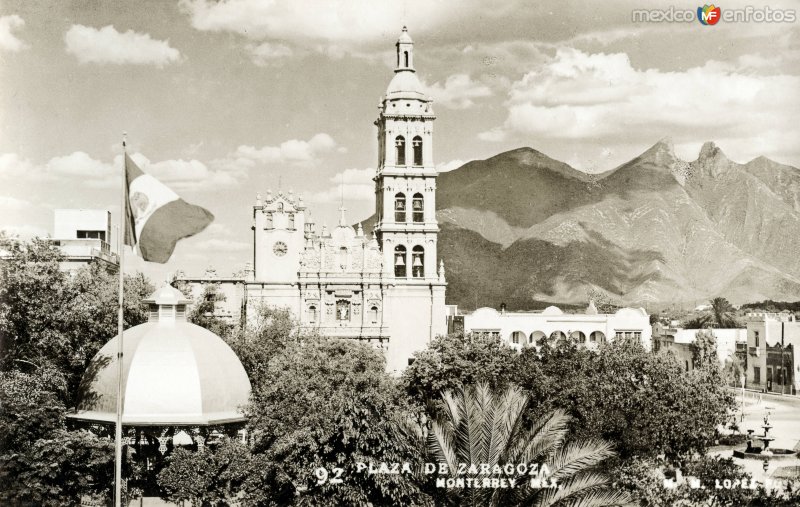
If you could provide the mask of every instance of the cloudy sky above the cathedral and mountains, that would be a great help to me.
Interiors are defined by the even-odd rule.
[[[744,9],[747,2],[719,4]],[[663,11],[660,22],[636,9]],[[664,137],[694,160],[800,167],[800,21],[668,22],[687,2],[0,0],[0,229],[53,231],[57,208],[118,224],[122,133],[146,172],[214,223],[156,280],[251,260],[256,194],[293,190],[317,224],[374,209],[377,105],[403,25],[437,114],[440,171],[529,146],[600,172]],[[752,7],[751,7],[752,9]]]

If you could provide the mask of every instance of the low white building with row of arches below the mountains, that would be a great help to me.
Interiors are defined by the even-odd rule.
[[[571,340],[588,347],[606,341],[636,340],[651,349],[650,316],[643,308],[598,313],[593,304],[584,313],[564,313],[550,306],[541,312],[506,312],[479,308],[463,315],[464,332],[502,338],[512,347],[541,346],[545,341]]]

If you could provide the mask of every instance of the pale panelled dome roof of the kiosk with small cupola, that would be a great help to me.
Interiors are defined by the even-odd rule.
[[[243,421],[250,380],[222,338],[186,322],[186,300],[162,287],[145,302],[150,321],[123,334],[122,423],[203,426]],[[79,420],[114,422],[119,335],[106,343],[84,373]]]

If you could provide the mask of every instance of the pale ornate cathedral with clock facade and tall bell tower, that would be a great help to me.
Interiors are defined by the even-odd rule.
[[[252,269],[242,279],[218,282],[245,312],[262,304],[285,307],[304,330],[369,342],[384,351],[390,372],[402,371],[414,352],[447,332],[447,284],[436,256],[436,116],[405,27],[396,47],[394,77],[375,120],[379,162],[371,234],[349,225],[344,207],[338,226],[318,231],[301,197],[259,195]],[[184,280],[195,292],[211,281]]]

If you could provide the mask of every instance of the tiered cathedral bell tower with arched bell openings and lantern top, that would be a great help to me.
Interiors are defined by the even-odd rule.
[[[436,261],[436,169],[433,100],[414,69],[406,27],[397,40],[394,78],[378,105],[375,233],[385,274],[410,282],[439,281]],[[442,280],[443,281],[443,280]]]

